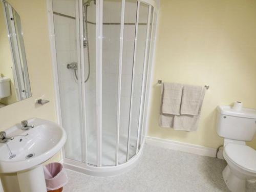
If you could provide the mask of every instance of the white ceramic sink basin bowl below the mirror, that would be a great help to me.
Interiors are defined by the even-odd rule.
[[[7,143],[0,143],[0,173],[15,173],[39,165],[55,155],[65,144],[65,130],[54,122],[33,118],[30,130],[21,130],[20,124],[6,130]],[[18,135],[18,136],[17,136]]]

